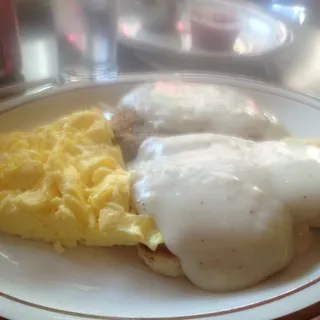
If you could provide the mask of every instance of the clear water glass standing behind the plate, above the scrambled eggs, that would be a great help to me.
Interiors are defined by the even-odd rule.
[[[62,82],[117,75],[117,0],[51,0]]]

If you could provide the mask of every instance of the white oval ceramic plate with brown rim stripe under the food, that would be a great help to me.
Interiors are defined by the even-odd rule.
[[[214,75],[134,75],[115,83],[76,85],[29,94],[0,106],[1,131],[27,129],[72,111],[115,104],[137,83],[192,80],[235,86],[251,94],[301,138],[320,138],[320,102],[240,78]],[[235,293],[202,292],[185,279],[155,274],[134,248],[52,246],[0,235],[0,315],[10,319],[271,319],[319,301],[320,237],[284,272]]]

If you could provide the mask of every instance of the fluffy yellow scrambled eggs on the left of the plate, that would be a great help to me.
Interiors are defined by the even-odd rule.
[[[0,135],[0,230],[53,242],[162,242],[154,220],[130,209],[131,174],[112,144],[110,123],[78,112],[32,132]]]

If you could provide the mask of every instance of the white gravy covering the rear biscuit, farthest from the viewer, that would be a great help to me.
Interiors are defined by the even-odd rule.
[[[183,82],[137,87],[120,102],[159,133],[212,132],[253,140],[288,136],[284,126],[234,88]]]

